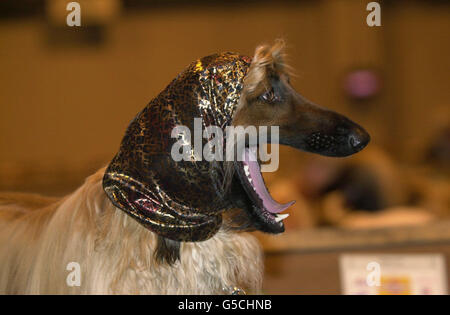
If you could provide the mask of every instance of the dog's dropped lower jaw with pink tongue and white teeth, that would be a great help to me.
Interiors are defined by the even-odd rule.
[[[239,180],[251,202],[251,215],[258,220],[262,230],[270,233],[284,231],[283,219],[289,214],[281,214],[295,203],[291,201],[280,204],[270,195],[261,174],[261,167],[257,160],[257,148],[245,148],[242,152],[242,161],[236,162]]]

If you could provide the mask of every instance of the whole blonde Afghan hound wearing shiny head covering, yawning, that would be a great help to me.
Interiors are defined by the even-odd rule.
[[[278,126],[280,144],[327,156],[369,142],[362,127],[291,87],[282,42],[252,58],[201,58],[138,113],[111,163],[75,192],[0,196],[0,293],[261,292],[262,250],[248,232],[283,232],[291,203],[271,198],[249,146],[241,160],[175,161],[172,131],[195,117],[203,127]]]

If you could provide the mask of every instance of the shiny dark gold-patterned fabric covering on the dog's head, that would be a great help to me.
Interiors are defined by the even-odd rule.
[[[103,188],[113,204],[149,230],[175,241],[213,236],[231,205],[221,198],[223,165],[175,162],[173,128],[231,124],[251,59],[214,54],[193,62],[130,123]],[[206,139],[203,139],[203,144]]]

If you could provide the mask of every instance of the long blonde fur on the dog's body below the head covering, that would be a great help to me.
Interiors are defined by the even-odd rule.
[[[154,259],[156,235],[115,208],[104,169],[61,199],[0,195],[0,294],[223,294],[259,292],[262,253],[246,233],[220,230],[182,243],[169,266]],[[81,285],[69,286],[70,262]]]

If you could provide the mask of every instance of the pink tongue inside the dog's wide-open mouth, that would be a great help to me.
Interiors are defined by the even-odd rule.
[[[248,166],[249,175],[251,178],[251,184],[255,188],[256,193],[263,201],[264,208],[271,213],[280,213],[295,203],[295,200],[290,201],[285,204],[278,203],[270,195],[269,191],[264,184],[264,179],[262,178],[261,169],[256,158],[256,148],[245,148],[244,166]]]

